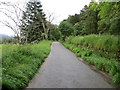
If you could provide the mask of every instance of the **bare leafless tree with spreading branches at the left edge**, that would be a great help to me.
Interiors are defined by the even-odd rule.
[[[10,2],[0,2],[0,13],[3,13],[7,20],[0,21],[3,25],[10,28],[16,35],[18,43],[21,43],[21,31],[20,26],[22,25],[21,15],[24,10],[22,10],[19,4],[13,4]],[[12,10],[10,11],[9,8]]]

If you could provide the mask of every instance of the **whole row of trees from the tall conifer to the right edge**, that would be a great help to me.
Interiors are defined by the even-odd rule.
[[[59,25],[52,24],[39,0],[30,0],[22,13],[19,43],[34,43],[43,39],[65,40],[68,36],[89,34],[120,35],[120,2],[91,2],[79,14],[70,15]]]

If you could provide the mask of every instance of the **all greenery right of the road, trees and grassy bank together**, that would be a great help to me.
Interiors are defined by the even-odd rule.
[[[120,2],[91,2],[58,29],[67,48],[120,84]]]

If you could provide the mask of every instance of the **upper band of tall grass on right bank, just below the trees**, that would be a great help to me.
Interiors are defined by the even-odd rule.
[[[97,50],[104,50],[109,52],[120,51],[120,37],[112,35],[87,35],[66,38],[66,42],[75,45],[82,45],[92,47]]]

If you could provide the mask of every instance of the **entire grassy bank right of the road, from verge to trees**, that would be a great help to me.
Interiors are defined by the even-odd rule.
[[[67,48],[97,69],[107,72],[114,83],[120,84],[120,41],[118,37],[110,35],[88,35],[82,37],[68,37]]]

